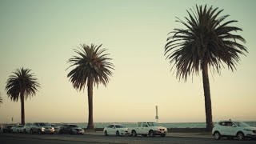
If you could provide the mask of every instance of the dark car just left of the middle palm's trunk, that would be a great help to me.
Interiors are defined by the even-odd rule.
[[[63,125],[59,130],[59,134],[84,134],[85,130],[73,124]]]

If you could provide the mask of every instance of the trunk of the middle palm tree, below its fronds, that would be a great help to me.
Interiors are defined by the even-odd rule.
[[[93,81],[89,78],[88,83],[88,107],[89,107],[89,117],[88,117],[88,130],[94,129],[94,114],[93,114]]]

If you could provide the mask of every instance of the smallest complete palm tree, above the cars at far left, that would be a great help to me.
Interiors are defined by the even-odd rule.
[[[34,78],[34,74],[30,74],[30,69],[17,69],[10,75],[6,82],[6,91],[10,100],[21,101],[22,106],[22,125],[25,125],[25,108],[24,100],[35,95],[40,87],[38,79]]]

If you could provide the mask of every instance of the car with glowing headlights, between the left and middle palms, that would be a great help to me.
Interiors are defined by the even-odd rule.
[[[50,126],[50,123],[35,122],[30,128],[30,134],[54,134],[54,127]]]

